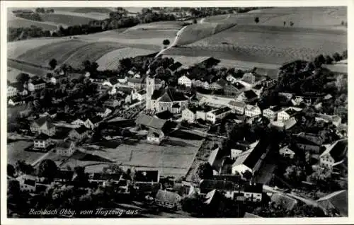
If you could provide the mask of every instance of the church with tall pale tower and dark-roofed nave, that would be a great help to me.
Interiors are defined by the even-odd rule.
[[[155,79],[147,77],[147,110],[160,113],[168,110],[173,114],[181,113],[188,106],[188,98],[183,93],[176,91],[175,88],[156,89]]]

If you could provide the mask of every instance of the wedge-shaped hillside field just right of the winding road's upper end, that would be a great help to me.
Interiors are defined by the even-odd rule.
[[[197,23],[188,25],[176,41],[176,45],[188,45],[202,38],[215,35],[234,26],[233,23]]]

